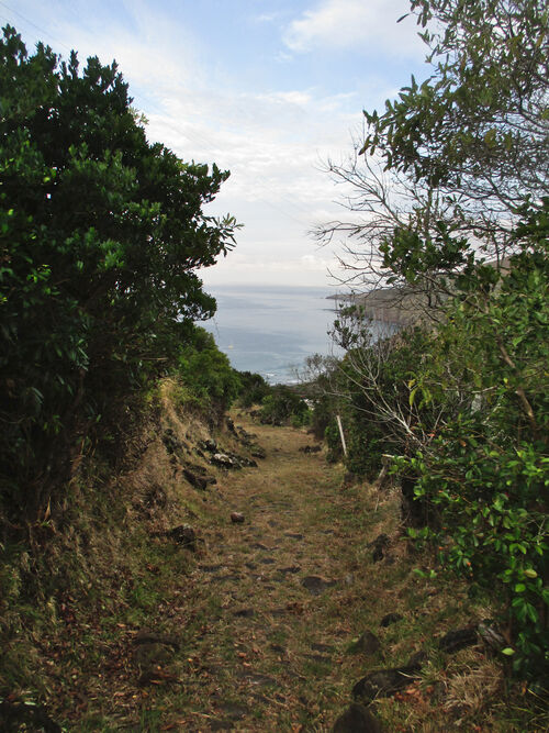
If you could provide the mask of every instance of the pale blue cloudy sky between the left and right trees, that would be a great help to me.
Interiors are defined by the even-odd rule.
[[[115,59],[147,136],[184,160],[231,170],[206,213],[244,226],[201,271],[205,285],[337,285],[337,243],[311,235],[341,216],[325,173],[383,109],[427,76],[408,0],[0,0],[29,49]],[[332,274],[332,275],[330,275]]]

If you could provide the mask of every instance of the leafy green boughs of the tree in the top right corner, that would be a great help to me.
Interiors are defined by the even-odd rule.
[[[494,213],[549,193],[549,11],[539,0],[411,0],[433,76],[414,78],[371,125],[362,151],[416,180],[467,192]],[[432,30],[434,29],[434,30]]]

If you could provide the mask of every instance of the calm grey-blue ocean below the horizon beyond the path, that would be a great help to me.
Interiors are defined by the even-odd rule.
[[[328,335],[334,319],[329,288],[209,286],[215,316],[201,323],[239,371],[260,374],[270,384],[298,381],[313,354],[338,355]]]

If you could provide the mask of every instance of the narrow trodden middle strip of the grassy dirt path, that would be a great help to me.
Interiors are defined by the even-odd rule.
[[[329,730],[360,669],[346,649],[360,631],[365,507],[340,469],[300,451],[303,432],[238,423],[267,458],[216,489],[219,521],[177,600],[191,614],[181,685],[156,700],[160,730]]]

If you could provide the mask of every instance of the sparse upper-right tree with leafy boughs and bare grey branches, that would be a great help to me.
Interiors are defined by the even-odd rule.
[[[350,184],[355,216],[317,236],[350,236],[341,262],[358,285],[390,280],[445,299],[468,263],[505,265],[522,207],[549,195],[549,16],[539,0],[411,8],[432,76],[412,78],[383,113],[366,111],[355,156],[328,163]]]

